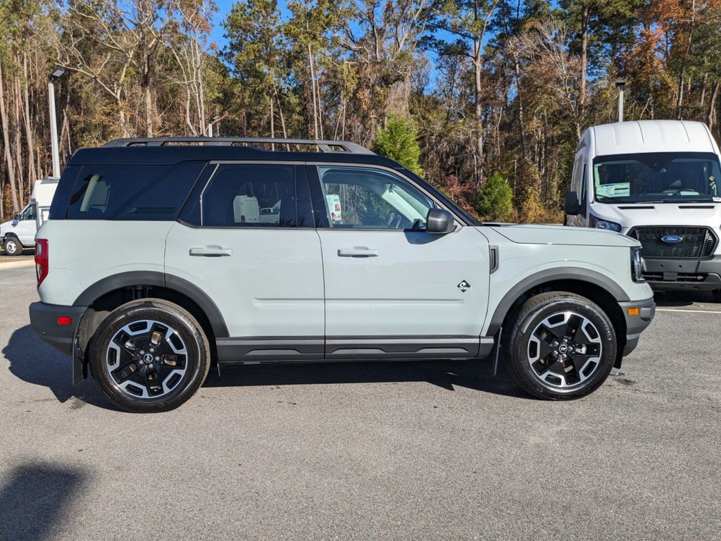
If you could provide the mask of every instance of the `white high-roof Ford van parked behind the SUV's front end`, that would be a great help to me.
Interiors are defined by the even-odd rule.
[[[565,224],[627,234],[657,291],[703,289],[721,301],[721,167],[704,123],[593,126],[576,149]]]

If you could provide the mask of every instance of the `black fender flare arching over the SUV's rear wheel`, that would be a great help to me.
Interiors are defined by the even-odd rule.
[[[198,307],[205,313],[205,317],[208,317],[208,321],[213,329],[213,335],[215,335],[216,338],[229,337],[228,327],[226,327],[223,315],[221,315],[213,299],[198,288],[198,286],[195,286],[195,284],[183,278],[156,271],[130,271],[102,278],[83,291],[80,296],[75,299],[73,306],[90,306],[96,299],[99,299],[99,297],[106,293],[110,293],[110,291],[132,286],[159,286],[172,289],[187,296],[188,299],[198,304]]]

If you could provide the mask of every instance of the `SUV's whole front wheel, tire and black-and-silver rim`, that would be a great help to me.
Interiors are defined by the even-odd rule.
[[[501,351],[508,375],[535,397],[572,400],[588,395],[606,381],[616,360],[611,320],[580,295],[552,291],[533,296],[507,328]]]

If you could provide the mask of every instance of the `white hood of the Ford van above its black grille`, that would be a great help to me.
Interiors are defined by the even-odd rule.
[[[721,203],[593,203],[590,211],[624,229],[662,225],[721,227]]]

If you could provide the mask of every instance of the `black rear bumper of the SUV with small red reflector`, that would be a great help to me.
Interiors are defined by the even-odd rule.
[[[33,302],[30,304],[30,325],[43,342],[76,362],[75,336],[85,309],[86,307]],[[58,325],[58,317],[72,317],[73,320],[71,325]],[[76,366],[74,374],[74,379],[77,379]]]

